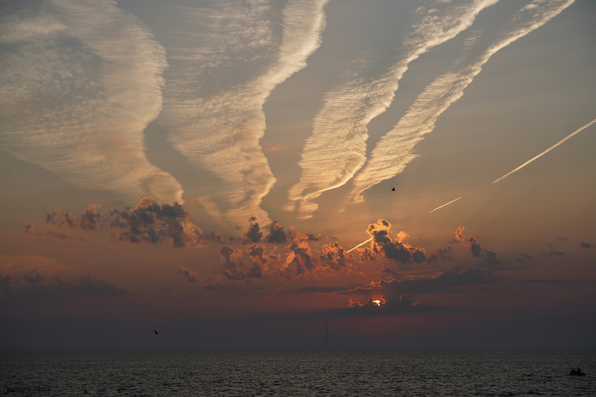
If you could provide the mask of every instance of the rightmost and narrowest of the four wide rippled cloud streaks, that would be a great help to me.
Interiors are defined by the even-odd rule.
[[[362,192],[385,179],[401,173],[412,161],[414,146],[434,129],[434,123],[451,104],[461,98],[464,89],[495,52],[532,30],[544,25],[575,0],[533,0],[515,14],[507,30],[501,33],[485,51],[469,62],[461,61],[457,70],[437,77],[426,87],[398,124],[381,137],[364,170],[355,177],[347,202],[364,201]]]

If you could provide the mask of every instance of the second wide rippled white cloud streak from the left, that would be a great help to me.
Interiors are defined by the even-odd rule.
[[[252,216],[271,222],[260,208],[275,183],[259,144],[263,104],[306,66],[325,27],[327,0],[288,0],[280,40],[273,22],[278,10],[269,3],[229,0],[183,10],[183,22],[195,18],[206,33],[181,36],[160,114],[173,146],[218,180],[201,202],[239,224]]]

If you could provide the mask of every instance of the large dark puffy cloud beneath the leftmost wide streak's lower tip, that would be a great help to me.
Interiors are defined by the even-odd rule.
[[[113,236],[117,241],[155,244],[163,239],[172,239],[174,247],[196,245],[201,241],[224,239],[216,232],[203,233],[189,221],[191,212],[174,202],[159,204],[153,197],[141,197],[135,208],[125,211],[110,211]]]

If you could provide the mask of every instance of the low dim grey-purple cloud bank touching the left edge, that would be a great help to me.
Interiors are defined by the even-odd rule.
[[[55,301],[73,298],[120,298],[129,293],[107,280],[101,280],[92,274],[81,276],[73,283],[64,282],[60,276],[44,277],[37,270],[29,271],[22,280],[14,280],[12,276],[0,273],[2,300],[11,302]]]

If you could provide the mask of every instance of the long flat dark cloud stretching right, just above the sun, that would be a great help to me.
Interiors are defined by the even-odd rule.
[[[464,285],[483,285],[496,283],[498,280],[492,275],[492,271],[486,268],[468,267],[463,270],[449,269],[437,274],[431,279],[414,280],[380,280],[378,283],[371,283],[367,287],[336,292],[335,295],[370,295],[374,291],[383,293],[383,296],[399,296],[403,293],[430,293],[438,292],[445,287]]]

